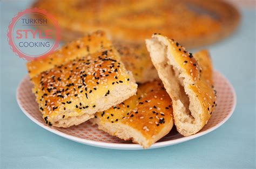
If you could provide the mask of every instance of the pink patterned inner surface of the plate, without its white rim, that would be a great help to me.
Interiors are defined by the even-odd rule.
[[[221,123],[229,114],[232,113],[234,104],[235,104],[235,95],[233,93],[232,87],[228,83],[228,81],[218,72],[214,72],[214,83],[215,89],[217,90],[217,107],[211,119],[204,126],[203,129],[199,132],[206,131],[208,129],[213,128],[215,125]],[[38,104],[35,101],[35,95],[32,93],[33,85],[29,81],[29,77],[26,76],[22,82],[20,83],[17,89],[17,99],[21,105],[21,107],[30,115],[32,118],[36,119],[39,123],[42,123],[47,128],[42,118],[42,114],[39,111]],[[105,143],[126,143],[133,144],[130,141],[124,141],[114,136],[110,136],[108,133],[101,131],[97,128],[97,126],[91,125],[90,122],[85,122],[83,124],[77,126],[71,126],[70,128],[55,128],[51,127],[54,130],[58,130],[59,132],[63,132],[66,135],[70,135],[73,137],[78,137],[86,140],[93,140],[97,142],[105,142]],[[181,136],[176,128],[174,127],[169,134],[165,137],[161,138],[158,142],[166,142],[169,140],[174,140],[181,138]]]

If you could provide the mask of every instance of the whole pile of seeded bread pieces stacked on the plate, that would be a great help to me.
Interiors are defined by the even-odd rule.
[[[137,48],[113,45],[97,31],[27,68],[46,124],[69,128],[90,120],[144,148],[174,124],[183,136],[197,133],[216,105],[207,51],[188,53],[160,34]]]

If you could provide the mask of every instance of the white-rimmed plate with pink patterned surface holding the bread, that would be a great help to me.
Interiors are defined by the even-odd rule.
[[[168,135],[161,138],[157,143],[153,144],[150,149],[174,145],[203,136],[206,133],[217,129],[219,126],[224,124],[228,118],[230,118],[236,104],[235,91],[231,83],[228,82],[228,80],[217,71],[214,71],[214,84],[217,90],[218,105],[211,119],[204,126],[204,128],[195,135],[188,137],[181,136],[176,129],[173,128]],[[56,133],[59,136],[87,145],[120,150],[143,149],[142,146],[138,144],[110,136],[108,133],[98,130],[97,126],[92,126],[89,122],[85,122],[78,126],[72,126],[70,128],[55,128],[53,126],[50,127],[46,125],[42,118],[42,114],[39,111],[38,104],[35,101],[35,95],[33,95],[31,89],[32,84],[29,81],[29,77],[26,76],[21,83],[19,83],[17,88],[17,102],[24,114],[33,122],[39,126],[42,126],[42,128]]]

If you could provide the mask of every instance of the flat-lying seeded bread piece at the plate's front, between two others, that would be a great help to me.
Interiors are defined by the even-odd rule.
[[[91,122],[110,135],[147,148],[172,129],[172,101],[160,81],[147,82],[139,85],[137,95],[97,112]]]

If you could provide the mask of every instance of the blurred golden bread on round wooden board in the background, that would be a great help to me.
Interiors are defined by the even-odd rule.
[[[113,39],[143,43],[160,32],[190,48],[228,36],[240,18],[233,6],[220,0],[39,0],[33,7],[50,12],[68,40],[100,29]]]

